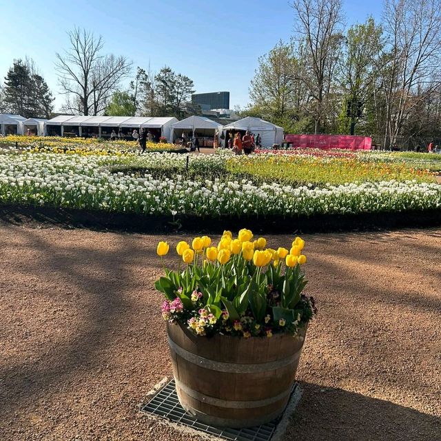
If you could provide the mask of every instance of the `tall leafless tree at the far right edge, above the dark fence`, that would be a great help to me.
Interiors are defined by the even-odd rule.
[[[441,85],[441,1],[387,0],[376,71],[384,96],[385,145],[396,141],[409,115]]]

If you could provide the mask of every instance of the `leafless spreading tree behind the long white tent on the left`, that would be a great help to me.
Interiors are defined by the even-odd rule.
[[[103,39],[90,31],[74,28],[68,36],[70,48],[56,53],[55,64],[66,105],[84,115],[98,114],[130,73],[131,63],[125,57],[101,54]]]

